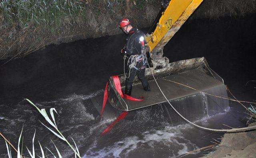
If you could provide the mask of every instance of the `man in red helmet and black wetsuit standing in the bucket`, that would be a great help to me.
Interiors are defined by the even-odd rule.
[[[145,46],[144,33],[139,29],[133,28],[128,19],[121,20],[119,27],[128,34],[126,45],[121,50],[124,59],[128,58],[124,93],[131,96],[132,82],[136,75],[140,79],[144,90],[150,91],[150,86],[145,78],[145,68],[147,65],[146,52],[148,48]]]

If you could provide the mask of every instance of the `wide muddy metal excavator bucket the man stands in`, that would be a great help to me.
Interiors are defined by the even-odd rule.
[[[151,68],[151,71],[162,92],[171,103],[175,104],[178,100],[186,100],[185,104],[192,105],[191,103],[194,103],[192,106],[195,106],[195,109],[200,104],[204,106],[200,109],[207,109],[207,115],[213,115],[228,107],[228,100],[223,99],[227,97],[224,81],[208,66],[204,57],[172,62],[166,68],[158,70]],[[110,104],[120,111],[132,111],[166,102],[149,68],[146,68],[145,76],[148,79],[151,91],[144,91],[137,77],[134,79],[132,89],[132,97],[139,98],[144,96],[143,101],[130,101],[122,98],[116,90],[113,78],[110,77],[107,88]],[[124,74],[119,75],[119,78],[122,92],[124,92]],[[222,98],[217,97],[216,99],[214,95]],[[186,105],[182,105],[182,108],[186,107]],[[177,106],[181,105],[177,104]]]

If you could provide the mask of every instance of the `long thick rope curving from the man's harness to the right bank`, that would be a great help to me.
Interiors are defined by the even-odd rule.
[[[148,64],[148,62],[147,62]],[[254,126],[250,126],[250,127],[244,127],[244,128],[236,128],[236,129],[210,129],[210,128],[206,128],[206,127],[202,127],[202,126],[199,126],[199,125],[196,125],[195,123],[192,123],[191,121],[189,121],[188,119],[186,119],[184,116],[182,116],[173,106],[172,104],[170,103],[170,101],[166,98],[166,96],[164,95],[163,91],[161,90],[160,86],[158,85],[158,82],[156,81],[156,78],[153,74],[153,72],[151,71],[150,69],[150,66],[148,64],[148,67],[149,67],[149,70],[156,82],[156,85],[158,86],[160,92],[162,93],[162,95],[164,96],[164,98],[166,99],[166,101],[169,103],[169,105],[172,107],[172,109],[174,109],[174,111],[180,115],[180,117],[182,117],[182,119],[184,119],[185,121],[187,121],[188,123],[200,128],[200,129],[205,129],[205,130],[208,130],[208,131],[216,131],[216,132],[240,132],[240,131],[249,131],[249,130],[252,130],[252,129],[256,129],[256,125]]]

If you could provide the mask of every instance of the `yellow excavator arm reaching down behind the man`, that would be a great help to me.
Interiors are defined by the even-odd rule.
[[[171,0],[156,29],[146,36],[150,53],[160,52],[203,0]]]

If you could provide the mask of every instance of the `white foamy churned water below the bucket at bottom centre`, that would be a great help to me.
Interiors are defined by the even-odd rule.
[[[165,126],[163,129],[150,129],[141,135],[124,137],[114,144],[98,149],[96,144],[90,149],[84,158],[94,157],[131,157],[133,153],[141,153],[146,156],[152,152],[162,152],[169,157],[177,157],[190,150],[198,148],[195,144],[183,137],[183,130],[191,128],[190,125],[180,125],[177,127]],[[147,150],[150,150],[147,152]],[[156,153],[155,153],[156,154]],[[197,154],[197,153],[194,153]],[[152,156],[152,155],[151,155]]]

